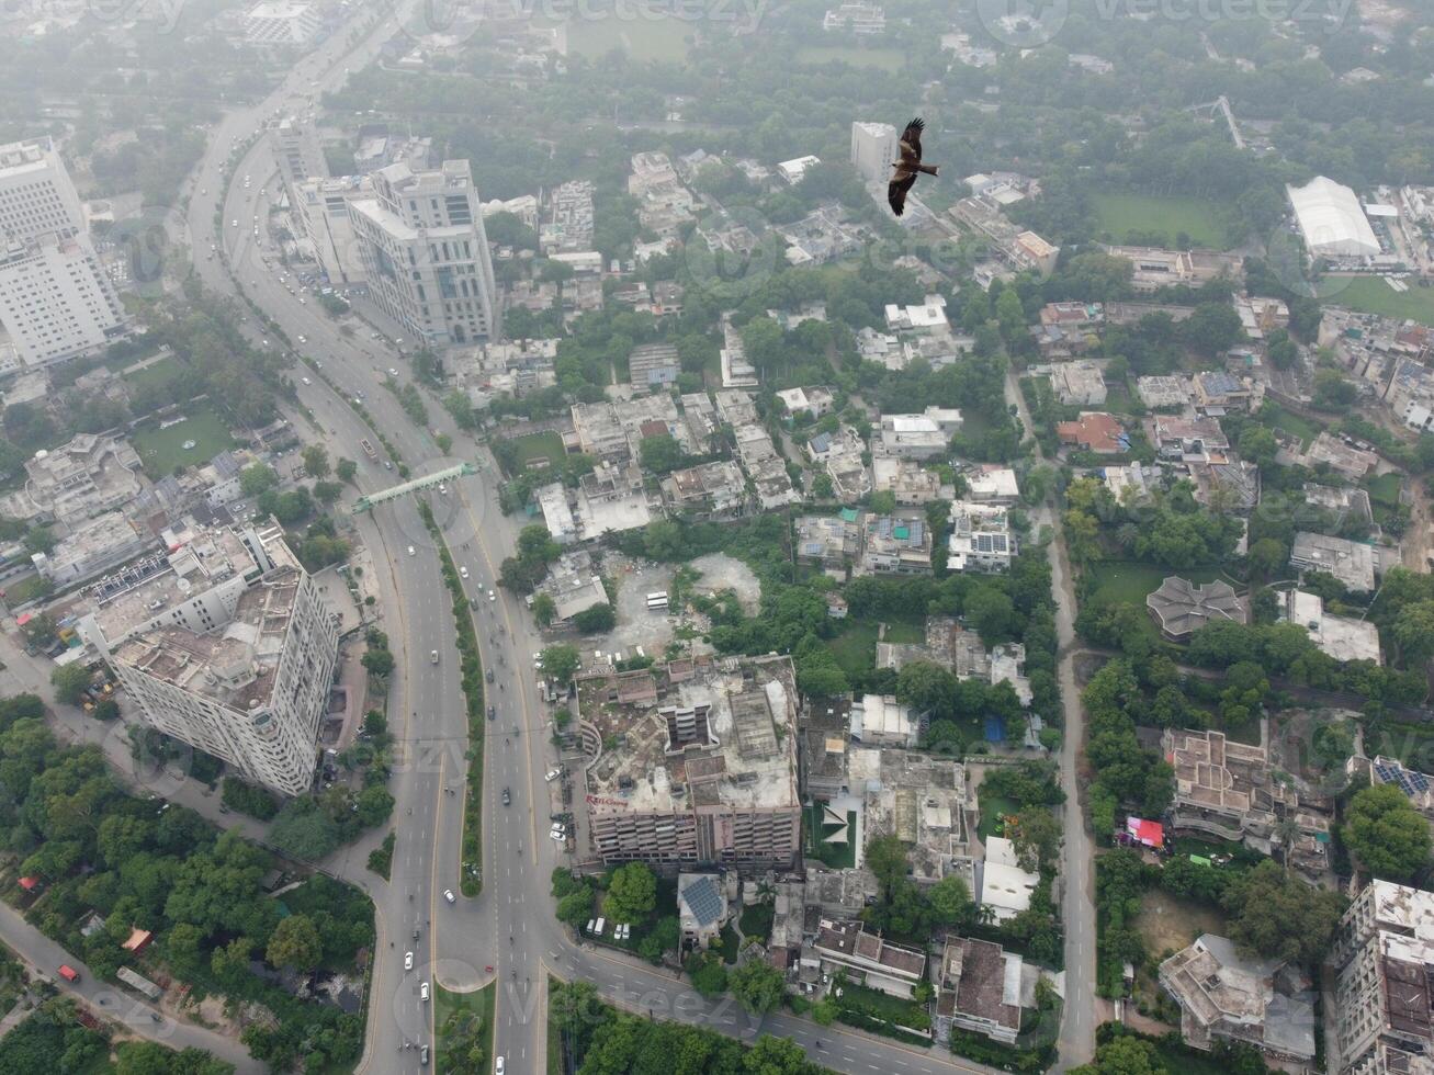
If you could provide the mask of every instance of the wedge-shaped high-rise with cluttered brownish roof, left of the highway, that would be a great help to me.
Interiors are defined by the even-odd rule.
[[[277,527],[165,535],[86,591],[80,636],[143,720],[285,796],[308,791],[338,625]]]

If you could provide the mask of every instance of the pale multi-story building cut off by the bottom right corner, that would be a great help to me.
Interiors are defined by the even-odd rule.
[[[1434,893],[1369,882],[1335,932],[1338,1075],[1428,1069],[1434,1054]]]

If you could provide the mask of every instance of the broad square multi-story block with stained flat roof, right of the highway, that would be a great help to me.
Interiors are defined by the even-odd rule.
[[[794,866],[799,698],[787,656],[579,678],[587,850],[673,870]]]

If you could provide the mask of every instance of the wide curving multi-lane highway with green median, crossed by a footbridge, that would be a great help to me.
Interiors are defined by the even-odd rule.
[[[647,963],[589,950],[574,943],[554,917],[549,877],[562,851],[548,838],[554,785],[543,773],[555,763],[549,742],[548,712],[536,689],[532,655],[542,639],[519,599],[506,592],[490,598],[498,566],[515,546],[518,525],[496,506],[492,482],[496,467],[486,450],[457,430],[436,401],[429,401],[430,427],[453,437],[453,456],[440,456],[429,430],[417,429],[397,398],[383,387],[387,368],[403,360],[369,338],[367,331],[344,335],[317,302],[280,281],[275,251],[261,226],[277,175],[270,148],[260,140],[234,168],[228,182],[224,162],[234,139],[248,139],[265,118],[298,108],[303,102],[341,83],[346,70],[367,63],[379,44],[396,30],[396,20],[381,20],[356,47],[330,40],[300,62],[288,80],[264,102],[228,113],[211,133],[195,176],[186,215],[194,269],[205,287],[238,294],[261,307],[305,355],[321,363],[323,380],[300,384],[298,398],[317,424],[294,416],[300,436],[324,443],[331,457],[360,463],[357,483],[366,493],[399,482],[396,472],[370,463],[358,447],[374,433],[347,400],[363,393],[377,429],[394,444],[413,474],[432,473],[459,459],[479,460],[480,473],[449,486],[447,496],[426,492],[445,543],[455,560],[469,569],[467,595],[485,668],[495,672],[486,699],[496,720],[486,722],[483,780],[483,890],[465,899],[459,887],[462,797],[466,773],[467,727],[459,688],[459,658],[453,644],[450,601],[439,572],[437,550],[423,527],[412,499],[380,505],[354,519],[356,536],[373,553],[381,592],[383,626],[396,656],[391,677],[390,730],[400,742],[390,791],[396,798],[397,847],[387,884],[364,870],[367,847],[354,849],[326,863],[340,876],[371,893],[377,917],[377,960],[373,975],[370,1021],[361,1072],[420,1072],[419,1045],[433,1043],[433,1003],[420,996],[420,983],[442,983],[469,990],[499,982],[495,1018],[495,1052],[515,1075],[546,1069],[545,1002],[548,973],[592,982],[601,995],[625,1009],[658,1018],[710,1025],[724,1033],[754,1039],[759,1032],[790,1038],[826,1066],[847,1072],[975,1072],[979,1065],[941,1051],[919,1051],[886,1039],[819,1028],[809,1021],[777,1013],[750,1021],[731,1002],[704,1002],[671,972]],[[347,34],[343,34],[347,37]],[[245,186],[244,176],[250,176]],[[219,209],[222,208],[222,214]],[[222,222],[215,234],[215,219]],[[238,221],[232,226],[231,221]],[[209,244],[224,255],[209,258]],[[262,257],[270,257],[265,267]],[[293,281],[290,281],[293,282]],[[262,338],[250,317],[247,331]],[[303,335],[307,343],[298,344]],[[271,341],[274,343],[274,341]],[[308,371],[295,367],[298,380]],[[308,426],[305,429],[305,426]],[[410,552],[412,550],[412,552]],[[430,654],[437,651],[439,664]],[[503,806],[503,788],[512,804]],[[376,841],[379,834],[374,834]],[[445,892],[455,893],[455,902]],[[414,937],[417,933],[417,937]],[[414,953],[406,970],[406,952]],[[817,1046],[820,1039],[822,1046]],[[409,1048],[406,1048],[409,1046]]]

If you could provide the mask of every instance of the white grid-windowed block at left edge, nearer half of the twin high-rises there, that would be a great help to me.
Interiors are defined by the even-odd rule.
[[[50,366],[125,333],[119,295],[83,231],[0,248],[0,324],[22,361]]]

